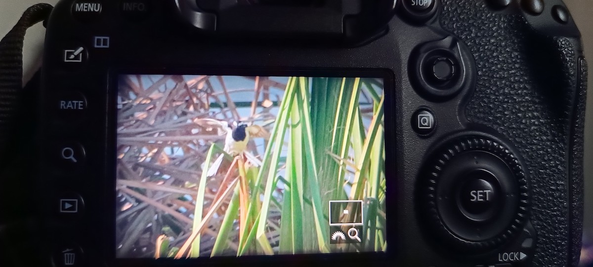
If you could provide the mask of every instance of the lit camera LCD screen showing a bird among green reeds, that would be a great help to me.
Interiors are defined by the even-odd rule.
[[[384,79],[119,75],[116,258],[383,252]]]

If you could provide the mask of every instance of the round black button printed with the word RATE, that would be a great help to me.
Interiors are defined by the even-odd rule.
[[[58,117],[66,119],[81,118],[88,108],[87,98],[80,92],[60,92],[52,105]]]

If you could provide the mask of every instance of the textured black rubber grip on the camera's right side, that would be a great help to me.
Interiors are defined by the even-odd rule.
[[[582,220],[569,210],[582,205],[569,203],[582,202],[569,194],[582,194],[576,189],[582,188],[582,149],[575,150],[575,162],[567,155],[570,143],[582,142],[582,135],[574,137],[580,138],[577,142],[570,140],[576,87],[573,46],[566,38],[535,33],[522,15],[494,13],[484,1],[443,2],[442,26],[464,41],[476,60],[478,78],[466,106],[467,120],[499,131],[524,158],[531,220],[538,234],[534,266],[567,266],[575,257],[568,251],[570,242],[577,242],[570,226]],[[584,98],[582,92],[578,97]],[[582,130],[583,117],[579,120],[577,128]],[[572,183],[569,164],[576,175]]]

